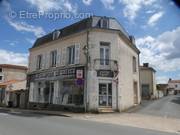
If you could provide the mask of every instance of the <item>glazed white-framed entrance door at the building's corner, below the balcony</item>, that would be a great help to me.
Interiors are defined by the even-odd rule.
[[[112,83],[99,84],[99,106],[112,107]]]

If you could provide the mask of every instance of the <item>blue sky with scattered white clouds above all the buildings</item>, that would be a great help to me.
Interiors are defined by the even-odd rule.
[[[171,0],[0,0],[0,63],[27,65],[38,37],[91,15],[115,17],[158,83],[180,79],[180,8]]]

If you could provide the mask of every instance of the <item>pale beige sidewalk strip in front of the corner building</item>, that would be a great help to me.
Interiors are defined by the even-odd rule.
[[[152,129],[163,132],[180,133],[180,119],[157,117],[136,113],[108,113],[108,114],[91,114],[91,113],[71,113],[47,110],[24,110],[1,108],[0,113],[33,113],[42,115],[53,115],[71,117],[73,119],[96,121],[109,124],[117,124],[145,129]]]

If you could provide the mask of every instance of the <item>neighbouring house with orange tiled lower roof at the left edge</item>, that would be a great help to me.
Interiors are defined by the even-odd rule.
[[[26,107],[27,67],[0,64],[0,104],[12,107]]]

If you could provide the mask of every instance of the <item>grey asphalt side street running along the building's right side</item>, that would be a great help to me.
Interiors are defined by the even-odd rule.
[[[135,113],[180,119],[180,95],[171,95],[152,102],[145,101]]]

